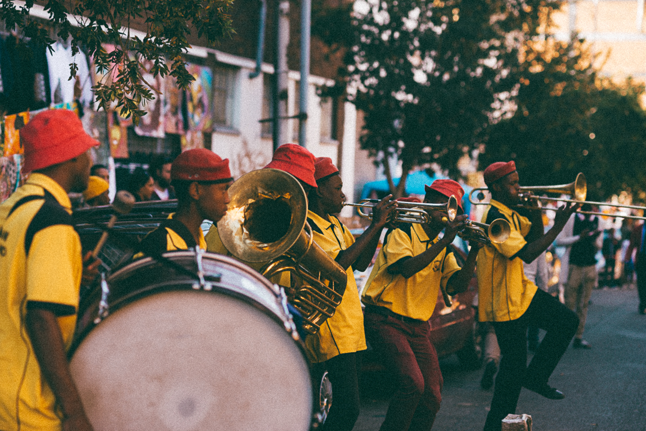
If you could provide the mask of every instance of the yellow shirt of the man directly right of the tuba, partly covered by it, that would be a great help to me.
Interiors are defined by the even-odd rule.
[[[307,222],[319,247],[335,259],[341,250],[354,244],[355,238],[335,216],[326,220],[312,211],[307,212]],[[363,313],[352,266],[349,266],[348,284],[341,303],[334,315],[321,325],[314,335],[307,336],[306,346],[312,361],[328,361],[341,353],[359,352],[366,349]]]

